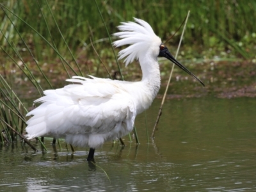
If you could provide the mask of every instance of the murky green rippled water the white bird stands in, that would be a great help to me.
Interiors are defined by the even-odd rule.
[[[77,148],[34,153],[0,147],[0,191],[256,191],[256,99],[167,100],[154,142],[147,143],[161,100],[136,119],[140,145],[106,143],[97,166]],[[36,146],[40,148],[40,145]]]

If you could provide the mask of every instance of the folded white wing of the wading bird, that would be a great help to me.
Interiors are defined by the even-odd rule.
[[[73,77],[68,81],[80,84],[46,90],[45,96],[35,101],[43,103],[27,114],[33,115],[27,122],[29,138],[102,134],[113,131],[117,124],[132,130],[136,109],[120,81],[96,77]]]

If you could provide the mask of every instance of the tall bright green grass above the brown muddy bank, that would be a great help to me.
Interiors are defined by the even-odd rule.
[[[38,3],[40,6],[38,6]],[[250,49],[250,51],[246,52],[246,49],[248,49],[246,45],[250,45],[252,42],[255,43],[255,37],[252,35],[256,31],[256,1],[254,0],[98,0],[97,3],[99,4],[100,12],[110,34],[116,32],[116,26],[121,21],[132,20],[132,17],[138,17],[147,20],[152,28],[154,28],[156,34],[164,40],[172,35],[175,29],[179,28],[180,23],[186,17],[186,13],[190,10],[191,16],[186,34],[184,35],[184,44],[186,46],[196,44],[209,49],[209,47],[219,47],[219,44],[222,47],[229,45],[231,49],[234,49],[238,55],[244,58],[254,56],[253,51],[255,50]],[[57,49],[63,55],[67,55],[67,57],[72,58],[68,54],[65,42],[75,56],[80,54],[81,50],[88,48],[90,38],[92,38],[94,44],[97,42],[109,43],[108,34],[94,1],[49,1],[49,7],[65,41],[63,41],[58,32],[58,26],[56,26],[46,1],[11,0],[5,1],[3,4],[12,10],[13,13],[19,15],[20,19],[23,19],[35,28],[49,42],[51,42],[51,33],[52,40],[56,44]],[[45,15],[47,23],[44,21],[40,8]],[[19,47],[19,49],[24,48],[24,45],[20,44],[19,35],[17,35],[10,22],[12,20],[27,44],[31,46],[38,60],[45,60],[45,57],[55,58],[57,56],[56,52],[49,51],[49,45],[45,44],[42,38],[32,31],[31,28],[28,28],[27,24],[15,17],[12,13],[7,12],[7,14],[10,19],[6,17],[3,10],[0,11],[0,15],[4,21],[0,26],[3,31],[3,33],[0,33],[1,46],[6,47],[8,51],[9,45],[4,39],[4,36],[6,36],[16,47]],[[49,31],[47,28],[49,28]],[[172,44],[178,44],[179,37],[180,34],[176,35],[170,42]],[[102,49],[103,46],[100,44],[98,47],[95,45],[95,47],[97,49],[101,47]],[[111,49],[111,47],[109,46],[108,49]]]

